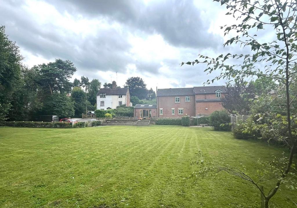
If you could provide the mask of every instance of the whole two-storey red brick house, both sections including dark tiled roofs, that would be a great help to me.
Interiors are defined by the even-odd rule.
[[[225,86],[157,89],[157,117],[211,114],[224,109],[221,98],[226,92]]]

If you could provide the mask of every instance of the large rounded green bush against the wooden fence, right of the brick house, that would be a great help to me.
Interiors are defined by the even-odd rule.
[[[209,116],[209,124],[216,131],[230,131],[230,116],[227,111],[214,111]]]

